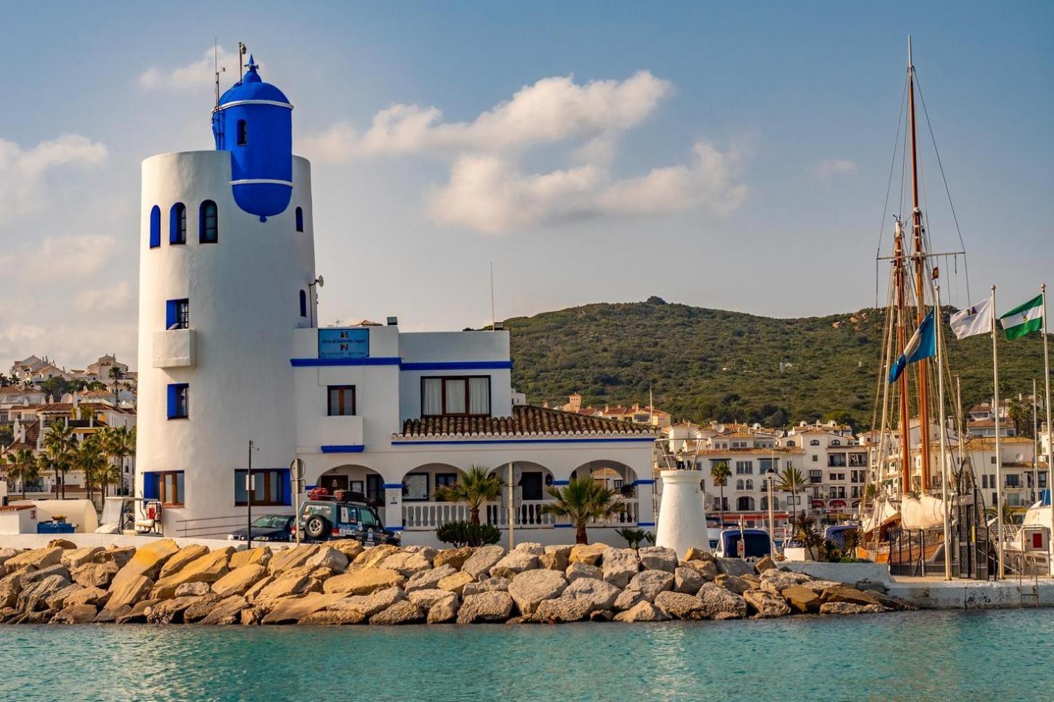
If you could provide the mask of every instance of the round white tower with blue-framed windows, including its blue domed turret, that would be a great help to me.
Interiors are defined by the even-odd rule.
[[[290,358],[315,268],[292,110],[250,57],[213,111],[215,151],[142,162],[136,493],[164,503],[167,534],[243,514],[250,440],[254,470],[296,455]],[[288,470],[268,475],[254,504],[288,494]]]

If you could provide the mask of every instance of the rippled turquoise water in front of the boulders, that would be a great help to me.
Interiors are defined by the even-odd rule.
[[[1054,609],[373,628],[0,626],[0,699],[1051,699]]]

